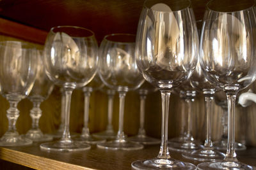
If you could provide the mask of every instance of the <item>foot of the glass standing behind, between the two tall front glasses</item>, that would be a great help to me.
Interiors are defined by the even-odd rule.
[[[192,152],[182,153],[182,157],[191,160],[198,161],[216,161],[223,160],[225,158],[225,154],[215,151],[215,150],[194,150]]]

